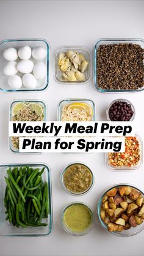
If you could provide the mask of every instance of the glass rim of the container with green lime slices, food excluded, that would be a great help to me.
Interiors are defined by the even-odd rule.
[[[43,100],[14,100],[14,101],[12,101],[12,103],[10,104],[10,110],[9,110],[9,121],[12,121],[12,109],[13,109],[13,106],[15,106],[15,104],[19,103],[19,102],[23,102],[23,103],[26,103],[26,104],[27,103],[37,103],[37,104],[40,104],[42,106],[42,108],[43,108],[43,115],[44,115],[43,121],[44,122],[47,121],[47,105],[46,105],[45,101],[43,101]],[[13,153],[20,153],[18,148],[15,148],[13,146],[13,142],[12,142],[12,138],[11,137],[9,137],[9,148],[10,148],[10,150]],[[30,154],[31,153],[32,152],[30,152]],[[23,154],[23,153],[21,152],[21,154]]]

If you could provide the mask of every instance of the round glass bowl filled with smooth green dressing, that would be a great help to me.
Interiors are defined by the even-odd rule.
[[[93,227],[93,210],[82,202],[70,203],[62,210],[61,224],[65,232],[71,235],[86,235]]]

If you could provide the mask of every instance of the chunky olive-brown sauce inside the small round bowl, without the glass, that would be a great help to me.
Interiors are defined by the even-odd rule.
[[[92,185],[92,172],[82,164],[73,164],[65,170],[63,183],[71,192],[87,191]]]

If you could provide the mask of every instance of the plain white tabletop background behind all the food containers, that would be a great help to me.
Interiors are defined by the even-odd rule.
[[[42,99],[48,103],[48,119],[57,119],[57,104],[63,98],[87,97],[96,103],[97,120],[106,120],[107,105],[115,98],[127,98],[135,106],[137,131],[143,135],[143,93],[101,94],[92,80],[84,86],[62,86],[54,81],[52,60],[60,45],[85,45],[92,52],[101,37],[144,38],[143,1],[0,1],[0,39],[45,38],[51,46],[49,89],[41,93],[0,93],[1,163],[45,162],[51,167],[54,230],[43,238],[0,238],[0,255],[143,255],[143,232],[130,238],[107,233],[99,224],[96,204],[109,186],[133,183],[143,188],[143,168],[135,172],[114,173],[107,169],[103,153],[90,155],[13,155],[8,148],[10,102],[16,99]],[[82,237],[65,233],[60,225],[60,211],[77,200],[63,191],[60,173],[73,161],[92,167],[96,180],[92,191],[78,200],[95,211],[92,232]]]

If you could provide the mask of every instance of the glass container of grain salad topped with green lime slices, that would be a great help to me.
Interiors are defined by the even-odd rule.
[[[46,121],[47,106],[42,100],[14,100],[10,104],[10,121]],[[19,152],[19,137],[9,137],[9,148]],[[32,152],[31,152],[32,153]]]

